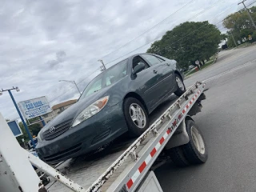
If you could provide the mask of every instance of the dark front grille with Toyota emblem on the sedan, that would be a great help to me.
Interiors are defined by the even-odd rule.
[[[50,140],[53,138],[58,137],[58,135],[63,134],[66,130],[68,130],[70,128],[72,119],[66,121],[66,122],[62,122],[61,124],[58,124],[57,126],[54,126],[55,130],[53,132],[50,132],[50,129],[46,130],[45,132],[43,132],[43,137],[46,140]]]

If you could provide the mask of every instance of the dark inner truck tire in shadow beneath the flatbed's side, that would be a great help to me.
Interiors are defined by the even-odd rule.
[[[170,156],[170,159],[172,162],[174,162],[175,166],[184,167],[190,165],[190,163],[184,157],[182,148],[180,146],[176,146],[174,148],[171,148],[170,150],[166,150],[166,154]]]

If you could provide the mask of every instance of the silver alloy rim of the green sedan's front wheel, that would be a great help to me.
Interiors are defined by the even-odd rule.
[[[130,105],[130,118],[138,128],[144,128],[146,126],[146,115],[142,110],[142,107],[137,103]]]

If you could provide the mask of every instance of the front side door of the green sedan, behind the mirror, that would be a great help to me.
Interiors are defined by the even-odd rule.
[[[132,78],[132,89],[138,91],[138,94],[142,96],[142,99],[146,103],[148,110],[151,111],[160,98],[157,84],[162,77],[158,73],[158,66],[150,66],[140,55],[132,59],[132,70],[140,62],[143,62],[146,67]]]

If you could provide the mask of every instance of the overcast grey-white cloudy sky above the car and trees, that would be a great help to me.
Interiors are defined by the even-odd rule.
[[[18,86],[16,102],[46,96],[50,106],[78,98],[73,84],[59,80],[73,80],[83,90],[100,73],[98,59],[107,68],[146,52],[186,21],[208,20],[225,33],[222,19],[242,8],[237,0],[0,2],[0,89]],[[18,118],[8,92],[0,96],[0,113]]]

